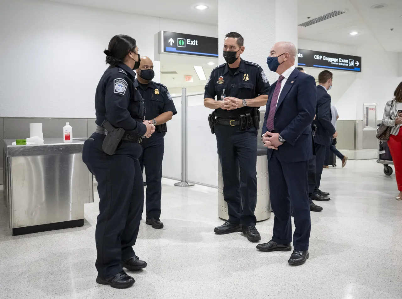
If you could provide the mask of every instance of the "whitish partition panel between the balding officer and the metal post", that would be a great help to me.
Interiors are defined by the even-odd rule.
[[[173,97],[173,103],[177,114],[168,121],[168,132],[165,139],[165,153],[162,163],[162,176],[181,179],[181,97]]]

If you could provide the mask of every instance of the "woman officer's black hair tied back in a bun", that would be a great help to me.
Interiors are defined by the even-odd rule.
[[[137,42],[131,36],[115,35],[109,41],[108,49],[103,51],[106,54],[106,63],[116,66],[119,62],[124,62],[130,52],[135,52],[135,47],[137,47]]]

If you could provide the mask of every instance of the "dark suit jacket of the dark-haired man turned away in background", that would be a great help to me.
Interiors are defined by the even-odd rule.
[[[314,142],[330,146],[332,135],[335,134],[335,128],[331,123],[331,96],[328,95],[325,87],[317,86],[317,117],[314,124],[317,126],[316,138]]]

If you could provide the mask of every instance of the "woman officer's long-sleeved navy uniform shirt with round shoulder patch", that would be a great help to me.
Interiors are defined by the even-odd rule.
[[[123,128],[127,134],[144,136],[147,128],[144,101],[134,87],[135,73],[120,63],[109,67],[96,87],[96,124],[102,126],[108,120],[116,128]]]

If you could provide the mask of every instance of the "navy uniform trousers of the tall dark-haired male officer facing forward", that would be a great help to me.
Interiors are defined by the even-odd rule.
[[[228,221],[255,226],[257,204],[257,130],[239,126],[215,126],[219,161],[224,181],[224,199],[228,203]],[[239,181],[240,168],[240,181]]]

